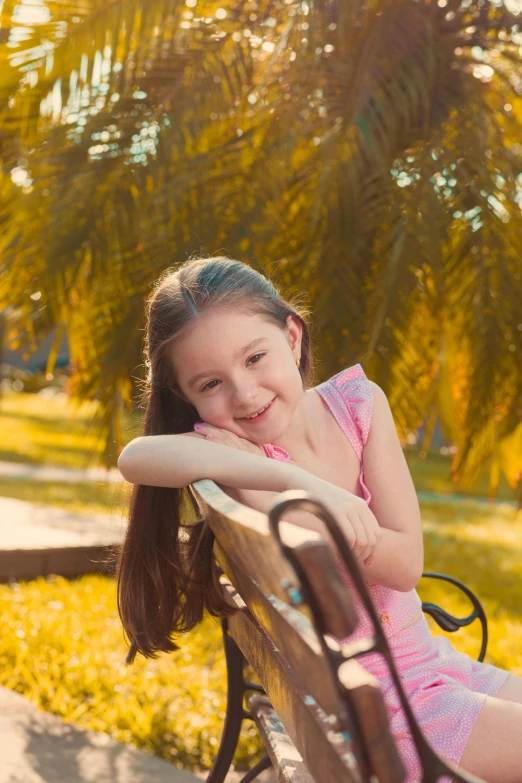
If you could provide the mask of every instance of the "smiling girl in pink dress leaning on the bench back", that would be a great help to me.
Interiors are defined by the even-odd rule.
[[[304,310],[226,258],[189,261],[160,280],[146,348],[145,437],[119,459],[136,485],[118,569],[128,662],[176,649],[173,634],[205,609],[228,611],[212,533],[186,516],[189,484],[213,479],[261,511],[275,494],[303,489],[330,508],[359,558],[430,744],[489,783],[520,783],[522,679],[430,634],[414,589],[423,570],[419,506],[382,390],[360,365],[312,387]],[[327,537],[312,514],[287,518]],[[357,608],[363,636],[371,626]],[[362,662],[380,681],[407,780],[419,780],[386,667],[379,656]]]

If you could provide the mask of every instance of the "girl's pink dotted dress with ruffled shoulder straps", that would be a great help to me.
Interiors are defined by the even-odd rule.
[[[371,496],[364,484],[363,449],[368,439],[373,392],[360,364],[334,375],[315,387],[327,403],[361,462],[359,481],[364,499]],[[289,461],[288,453],[264,444],[272,459]],[[348,573],[341,569],[348,585]],[[495,696],[509,672],[474,661],[457,652],[448,639],[432,636],[421,613],[416,590],[398,592],[367,582],[381,624],[394,656],[403,687],[424,736],[442,757],[458,764],[486,695]],[[372,624],[354,593],[359,624],[351,640],[372,634]],[[377,677],[386,702],[391,731],[407,771],[406,783],[421,779],[421,768],[408,730],[406,717],[395,693],[386,664],[376,653],[360,658],[365,669]],[[450,783],[450,778],[441,778]]]

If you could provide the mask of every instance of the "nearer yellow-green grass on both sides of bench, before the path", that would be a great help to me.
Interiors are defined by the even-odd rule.
[[[489,618],[487,661],[522,675],[521,513],[472,503],[423,504],[422,513],[426,570],[456,576],[477,593]],[[419,592],[454,614],[469,613],[467,599],[452,588],[422,580]],[[225,711],[216,621],[207,619],[181,639],[176,653],[125,668],[115,582],[86,576],[0,586],[0,624],[1,685],[66,721],[179,766],[211,765]],[[478,631],[475,623],[444,635],[476,656]],[[245,727],[239,765],[259,751],[253,727]]]

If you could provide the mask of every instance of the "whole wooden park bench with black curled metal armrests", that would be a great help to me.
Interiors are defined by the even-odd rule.
[[[228,697],[221,744],[207,783],[223,783],[237,747],[242,721],[252,719],[267,755],[243,778],[253,780],[271,765],[288,783],[401,783],[403,764],[389,730],[376,679],[357,658],[377,652],[385,659],[406,713],[424,770],[423,783],[449,776],[477,778],[440,759],[420,731],[391,658],[386,637],[359,571],[335,519],[303,492],[279,495],[268,516],[228,497],[214,482],[192,486],[200,513],[215,536],[220,581],[231,605],[222,619]],[[357,624],[350,591],[322,537],[284,521],[300,508],[322,519],[334,539],[374,626],[371,638],[344,644]],[[446,630],[478,618],[480,603],[462,586],[474,609],[454,618],[433,604],[424,609]],[[248,663],[261,685],[245,680]],[[245,709],[245,695],[248,709]]]

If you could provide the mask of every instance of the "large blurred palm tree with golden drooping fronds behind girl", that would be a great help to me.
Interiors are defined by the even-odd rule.
[[[318,380],[362,361],[522,496],[521,5],[4,0],[0,309],[67,329],[109,462],[152,281],[219,252],[308,292]]]

